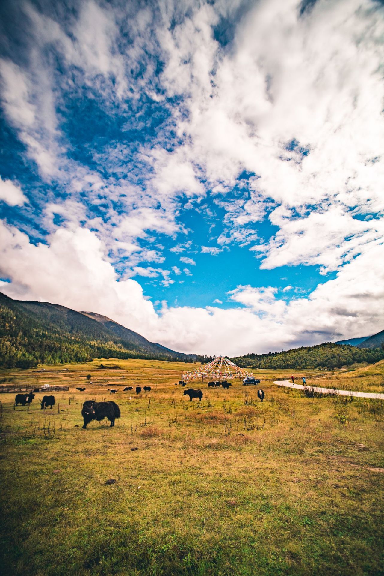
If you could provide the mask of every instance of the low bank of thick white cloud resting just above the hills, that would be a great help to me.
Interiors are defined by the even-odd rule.
[[[384,248],[375,243],[305,298],[285,302],[274,287],[237,286],[229,293],[233,308],[164,306],[158,315],[139,283],[118,280],[94,233],[59,229],[47,241],[33,245],[16,228],[0,226],[0,272],[11,281],[2,283],[6,294],[105,314],[174,350],[267,352],[373,333],[384,325],[378,306],[384,299]],[[167,285],[169,272],[155,271]]]

